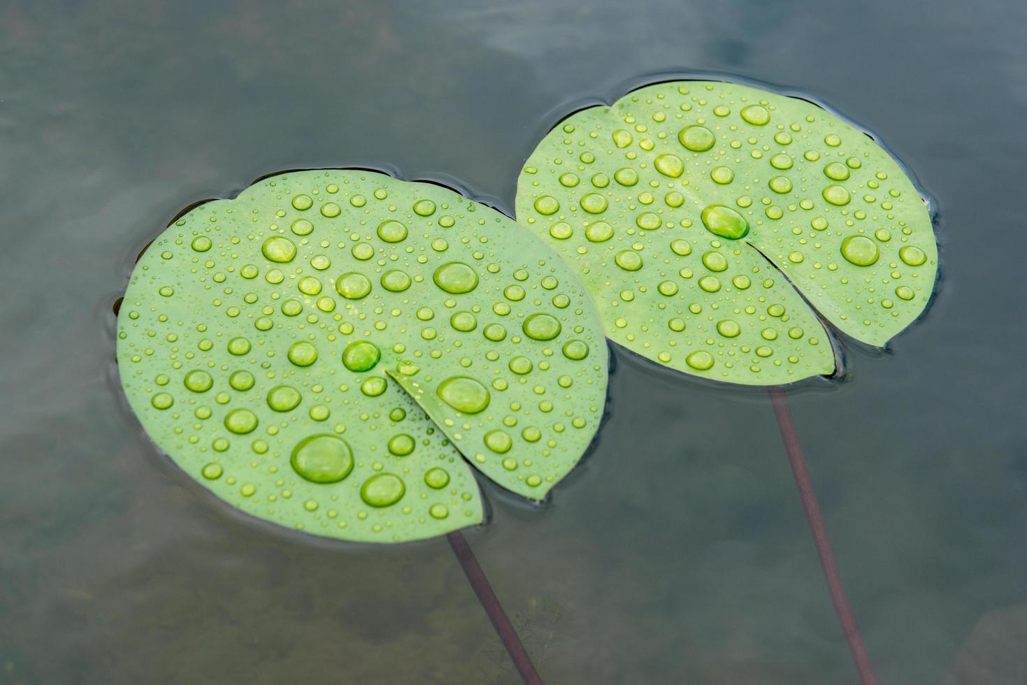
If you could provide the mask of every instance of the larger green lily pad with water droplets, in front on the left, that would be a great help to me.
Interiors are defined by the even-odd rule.
[[[543,498],[607,378],[553,251],[452,191],[357,170],[265,179],[169,226],[132,272],[118,364],[147,433],[220,498],[379,542],[481,522],[468,463]]]

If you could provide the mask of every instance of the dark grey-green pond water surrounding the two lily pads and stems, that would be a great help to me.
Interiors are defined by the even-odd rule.
[[[1027,682],[1025,26],[1014,0],[0,3],[0,682],[517,682],[445,540],[269,533],[160,458],[111,302],[177,212],[276,170],[509,211],[562,115],[688,71],[829,103],[937,198],[927,316],[792,406],[882,682]],[[615,356],[551,503],[486,486],[467,533],[543,678],[854,682],[766,395]]]

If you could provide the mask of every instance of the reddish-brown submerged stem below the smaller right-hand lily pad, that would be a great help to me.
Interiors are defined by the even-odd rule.
[[[770,387],[767,391],[770,393],[773,411],[777,416],[777,426],[781,428],[781,436],[785,442],[785,450],[788,452],[789,463],[792,464],[792,474],[795,477],[795,485],[799,489],[802,508],[806,510],[809,530],[813,534],[816,555],[821,558],[824,577],[828,581],[831,601],[834,603],[835,611],[838,614],[838,621],[841,623],[841,630],[845,634],[845,640],[848,642],[848,649],[852,653],[855,670],[860,673],[860,682],[863,685],[877,685],[877,677],[870,665],[870,656],[867,654],[867,647],[863,644],[860,626],[857,625],[855,617],[852,615],[852,608],[848,605],[848,598],[845,596],[845,587],[841,581],[841,574],[838,572],[838,565],[835,563],[834,551],[831,549],[831,541],[828,539],[828,529],[824,524],[821,506],[816,503],[816,493],[813,491],[813,484],[809,479],[806,460],[802,456],[799,434],[796,432],[795,423],[792,421],[792,410],[789,409],[788,397],[785,395],[785,390],[778,386]]]

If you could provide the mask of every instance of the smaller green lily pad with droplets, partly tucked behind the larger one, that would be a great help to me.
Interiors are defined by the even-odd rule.
[[[815,105],[732,83],[577,112],[526,162],[517,216],[579,273],[612,340],[732,383],[833,373],[813,309],[884,345],[938,267],[927,210],[887,152]]]

